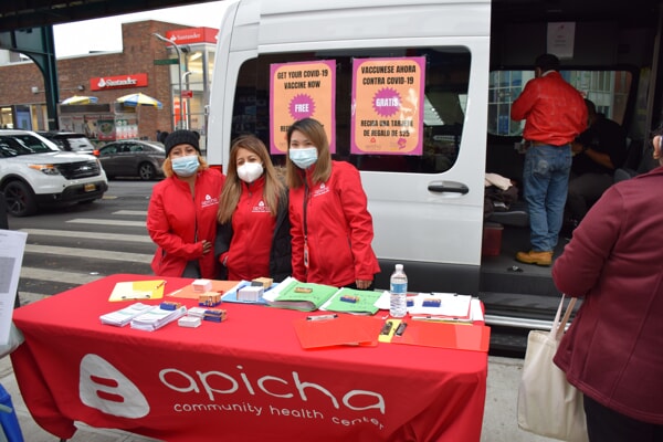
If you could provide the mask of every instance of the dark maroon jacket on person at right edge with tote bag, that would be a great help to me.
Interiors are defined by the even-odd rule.
[[[663,424],[663,167],[612,186],[552,267],[585,297],[555,364],[619,413]]]

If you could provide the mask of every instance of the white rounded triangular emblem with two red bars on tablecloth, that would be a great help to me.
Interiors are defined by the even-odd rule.
[[[138,387],[110,362],[97,355],[81,360],[81,402],[107,414],[139,419],[149,413],[149,403]]]

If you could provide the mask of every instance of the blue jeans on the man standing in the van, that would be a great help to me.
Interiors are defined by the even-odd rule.
[[[570,170],[570,145],[532,146],[525,154],[523,194],[529,212],[534,251],[552,251],[557,245]]]

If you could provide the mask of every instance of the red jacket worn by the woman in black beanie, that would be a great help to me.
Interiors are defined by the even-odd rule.
[[[202,254],[202,240],[214,244],[219,196],[225,177],[206,169],[196,177],[196,196],[189,185],[172,176],[157,183],[147,209],[147,231],[157,244],[151,262],[158,276],[181,276],[187,262],[198,260],[201,277],[214,278],[214,252]]]

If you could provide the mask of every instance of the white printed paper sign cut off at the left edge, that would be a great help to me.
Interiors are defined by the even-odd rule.
[[[0,344],[9,340],[28,233],[0,229]]]

